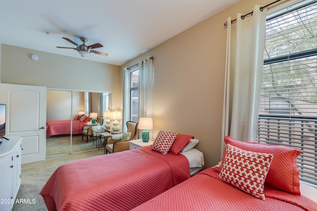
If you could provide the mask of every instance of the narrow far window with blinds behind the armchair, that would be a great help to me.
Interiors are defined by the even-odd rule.
[[[129,121],[139,121],[139,70],[129,73]]]

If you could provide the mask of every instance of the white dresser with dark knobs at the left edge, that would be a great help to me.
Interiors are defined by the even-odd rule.
[[[21,137],[1,139],[0,211],[10,211],[21,184]]]

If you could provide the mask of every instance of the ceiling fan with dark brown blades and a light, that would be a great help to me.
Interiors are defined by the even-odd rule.
[[[71,48],[71,49],[75,49],[78,51],[78,53],[81,55],[81,56],[88,56],[89,53],[97,53],[99,55],[102,55],[102,56],[107,56],[108,54],[107,53],[103,53],[103,52],[99,52],[99,51],[96,51],[96,50],[92,50],[93,48],[98,48],[98,47],[103,47],[102,44],[100,43],[95,43],[95,44],[92,44],[92,45],[89,45],[87,46],[85,44],[85,42],[88,41],[87,38],[84,38],[84,37],[80,37],[80,40],[83,42],[81,45],[77,44],[76,42],[73,42],[71,40],[69,40],[68,38],[63,38],[64,40],[68,41],[68,42],[71,42],[73,43],[74,45],[77,45],[77,47],[58,47],[58,48]]]

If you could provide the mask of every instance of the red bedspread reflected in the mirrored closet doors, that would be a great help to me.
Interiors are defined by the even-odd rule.
[[[46,137],[51,135],[64,135],[70,134],[70,120],[50,120],[46,122]],[[87,122],[80,122],[79,120],[73,120],[72,134],[81,134],[83,127],[87,125]]]

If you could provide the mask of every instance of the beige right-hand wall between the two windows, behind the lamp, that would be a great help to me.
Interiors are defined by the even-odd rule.
[[[154,135],[160,129],[194,135],[206,167],[220,160],[227,17],[271,0],[241,0],[120,67],[154,56]]]

